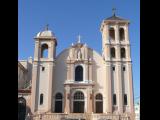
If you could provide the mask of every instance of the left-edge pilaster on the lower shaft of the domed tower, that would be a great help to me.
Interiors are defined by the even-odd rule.
[[[37,75],[38,75],[38,63],[33,62],[33,71],[32,71],[32,89],[31,89],[31,112],[35,112],[35,106],[36,106],[36,82],[37,82]]]

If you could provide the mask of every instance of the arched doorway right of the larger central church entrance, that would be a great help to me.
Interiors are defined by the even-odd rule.
[[[95,97],[96,99],[96,113],[103,113],[103,96],[99,93]]]

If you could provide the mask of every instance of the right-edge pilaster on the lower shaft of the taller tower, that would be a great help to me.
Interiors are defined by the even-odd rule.
[[[127,95],[127,99],[128,99],[128,105],[130,108],[130,112],[134,113],[134,97],[133,97],[133,76],[132,76],[132,64],[128,63],[127,64],[127,68],[128,68],[128,81],[129,81],[129,94]]]

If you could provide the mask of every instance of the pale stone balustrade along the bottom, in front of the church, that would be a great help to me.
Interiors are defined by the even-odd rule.
[[[107,114],[47,113],[27,116],[26,120],[132,120],[129,116]]]

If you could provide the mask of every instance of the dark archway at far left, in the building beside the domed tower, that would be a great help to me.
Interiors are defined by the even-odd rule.
[[[26,100],[23,97],[18,98],[18,120],[25,120],[26,117]]]

